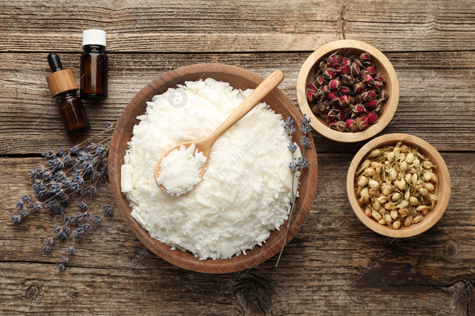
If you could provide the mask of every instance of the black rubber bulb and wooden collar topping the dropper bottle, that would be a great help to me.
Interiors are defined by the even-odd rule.
[[[51,53],[47,57],[51,73],[46,76],[49,91],[53,97],[70,90],[78,90],[76,79],[71,69],[63,69],[61,60],[56,53]]]

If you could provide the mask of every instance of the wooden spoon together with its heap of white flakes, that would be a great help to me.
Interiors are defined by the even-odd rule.
[[[214,142],[236,124],[284,80],[280,70],[272,72],[210,135],[180,144],[163,153],[155,167],[155,182],[169,194],[186,193],[201,181]]]

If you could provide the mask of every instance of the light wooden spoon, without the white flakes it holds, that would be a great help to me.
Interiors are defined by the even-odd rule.
[[[201,178],[205,172],[206,164],[208,163],[211,147],[218,139],[218,137],[223,135],[229,128],[231,128],[231,126],[236,124],[241,118],[243,118],[247,113],[249,113],[249,111],[252,110],[262,99],[264,99],[267,94],[272,92],[272,90],[276,89],[277,86],[283,80],[284,72],[281,72],[280,70],[272,72],[266,79],[264,79],[264,81],[262,81],[257,86],[254,91],[251,92],[251,94],[247,96],[247,98],[231,113],[231,115],[228,116],[228,118],[213,133],[199,140],[179,144],[162,154],[160,159],[158,160],[157,165],[155,166],[155,181],[157,181],[160,175],[161,160],[175,149],[180,150],[181,145],[185,146],[185,148],[188,148],[191,144],[195,144],[195,151],[198,150],[198,152],[202,152],[203,156],[207,158],[206,163],[201,168],[201,172],[199,172],[199,178]],[[165,192],[167,191],[165,187],[163,187],[161,184],[157,183],[157,185],[160,187],[161,190]]]

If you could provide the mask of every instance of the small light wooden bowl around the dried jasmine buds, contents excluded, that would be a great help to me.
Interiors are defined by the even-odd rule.
[[[359,205],[358,199],[356,198],[355,174],[357,168],[363,162],[366,155],[371,152],[371,150],[381,148],[385,145],[396,145],[401,139],[405,137],[409,138],[404,139],[403,144],[418,147],[419,152],[428,157],[429,160],[437,166],[437,168],[434,168],[434,173],[438,178],[437,203],[435,208],[429,211],[428,214],[424,216],[422,221],[416,224],[411,224],[407,227],[401,226],[399,229],[391,229],[387,225],[379,224],[374,218],[366,216],[365,209]],[[447,208],[448,201],[450,199],[450,187],[450,174],[448,172],[447,165],[440,153],[438,153],[437,150],[425,140],[409,134],[382,135],[365,144],[354,156],[346,178],[346,193],[356,216],[360,218],[364,225],[374,232],[390,237],[410,237],[423,233],[430,227],[434,226],[440,217],[442,217]]]

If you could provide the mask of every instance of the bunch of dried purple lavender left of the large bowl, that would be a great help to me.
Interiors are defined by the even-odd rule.
[[[107,127],[101,133],[87,141],[97,139],[99,135],[105,133],[112,135],[114,128],[115,123],[107,122]],[[56,151],[45,150],[42,155],[48,158],[47,164],[30,170],[29,175],[34,179],[32,187],[38,200],[32,202],[29,194],[23,194],[17,201],[19,212],[12,214],[10,220],[12,223],[21,223],[22,219],[31,216],[36,211],[45,209],[59,213],[59,219],[63,224],[57,225],[53,229],[54,235],[45,239],[44,251],[49,253],[55,243],[54,239],[66,239],[71,231],[74,231],[76,239],[86,235],[92,229],[89,222],[101,225],[103,217],[112,213],[112,208],[106,205],[103,207],[101,216],[91,214],[102,198],[94,206],[89,207],[93,195],[98,191],[100,182],[107,179],[110,139],[111,137],[106,137],[102,141],[89,144],[85,144],[86,141],[76,144],[70,149],[61,147]],[[110,187],[107,184],[103,197],[109,190]],[[65,212],[65,207],[72,195],[76,193],[87,195],[84,200],[79,202],[80,212],[70,216]],[[78,225],[79,223],[82,224]],[[73,228],[76,225],[78,225],[77,228]],[[67,251],[68,255],[75,253],[74,245],[69,246]],[[69,262],[68,255],[61,256],[61,263],[58,266],[60,271],[65,270],[65,264]]]

